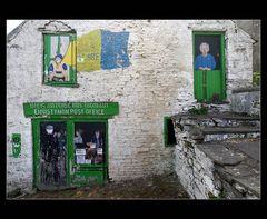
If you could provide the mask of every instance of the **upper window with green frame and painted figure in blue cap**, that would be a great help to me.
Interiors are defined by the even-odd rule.
[[[43,34],[43,83],[76,84],[76,34]]]

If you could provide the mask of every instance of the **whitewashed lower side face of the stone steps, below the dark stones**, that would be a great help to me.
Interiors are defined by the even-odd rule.
[[[220,183],[214,176],[214,162],[198,149],[196,145],[185,146],[180,141],[176,146],[176,173],[181,185],[194,199],[208,199],[220,195]]]

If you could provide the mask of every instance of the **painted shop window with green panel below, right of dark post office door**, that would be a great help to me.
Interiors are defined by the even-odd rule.
[[[71,186],[102,183],[108,178],[108,121],[75,120],[69,130]]]

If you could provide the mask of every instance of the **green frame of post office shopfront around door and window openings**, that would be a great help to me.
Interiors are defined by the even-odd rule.
[[[66,187],[71,187],[71,170],[70,162],[73,162],[73,133],[75,133],[75,122],[105,122],[106,125],[106,155],[105,155],[105,163],[103,165],[82,165],[86,167],[93,168],[103,168],[103,181],[108,180],[108,167],[109,167],[109,138],[108,138],[108,118],[92,118],[92,117],[52,117],[52,118],[32,118],[31,119],[31,128],[32,128],[32,156],[33,156],[33,187],[38,188],[40,183],[40,123],[41,122],[66,122],[66,146],[67,146],[67,155],[66,155],[66,177],[67,177],[67,185]],[[79,165],[80,166],[80,165]]]

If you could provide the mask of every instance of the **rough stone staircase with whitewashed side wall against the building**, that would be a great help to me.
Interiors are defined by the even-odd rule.
[[[236,150],[233,145],[222,143],[222,140],[231,138],[235,139],[234,142],[236,139],[250,138],[250,140],[256,139],[254,146],[257,147],[259,130],[257,133],[245,135],[246,137],[243,133],[224,135],[224,132],[209,136],[204,131],[207,127],[212,129],[224,127],[225,130],[229,130],[230,127],[241,127],[245,123],[247,127],[256,128],[258,119],[253,117],[250,120],[240,117],[238,119],[236,116],[221,117],[218,113],[208,116],[182,113],[174,116],[172,122],[177,139],[175,171],[191,198],[259,198],[258,161]],[[246,140],[243,143],[246,143]],[[244,168],[244,166],[246,167]],[[233,173],[235,171],[236,175]],[[238,177],[243,179],[239,180]],[[244,179],[248,180],[250,185],[244,183]],[[256,192],[254,187],[257,188]]]

